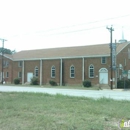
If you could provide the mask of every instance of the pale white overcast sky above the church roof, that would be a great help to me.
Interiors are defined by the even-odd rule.
[[[16,50],[130,40],[129,0],[0,0],[0,38]],[[2,47],[2,41],[0,41]]]

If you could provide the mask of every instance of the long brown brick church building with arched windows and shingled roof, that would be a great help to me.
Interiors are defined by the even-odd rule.
[[[1,56],[2,57],[2,56]],[[90,80],[93,85],[110,85],[111,56],[109,44],[87,45],[78,47],[24,50],[3,56],[3,79],[13,83],[20,78],[21,83],[30,82],[38,77],[39,84],[48,84],[49,80],[62,85],[81,85]],[[130,78],[130,44],[116,43],[116,69],[113,82],[122,78],[126,70]],[[0,59],[0,81],[2,81],[2,60]]]

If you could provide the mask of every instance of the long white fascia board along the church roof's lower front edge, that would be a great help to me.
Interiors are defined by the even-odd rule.
[[[58,59],[77,59],[77,58],[93,58],[93,57],[110,57],[110,55],[90,55],[90,56],[51,57],[51,58],[30,58],[30,59],[15,59],[13,61],[58,60]]]

